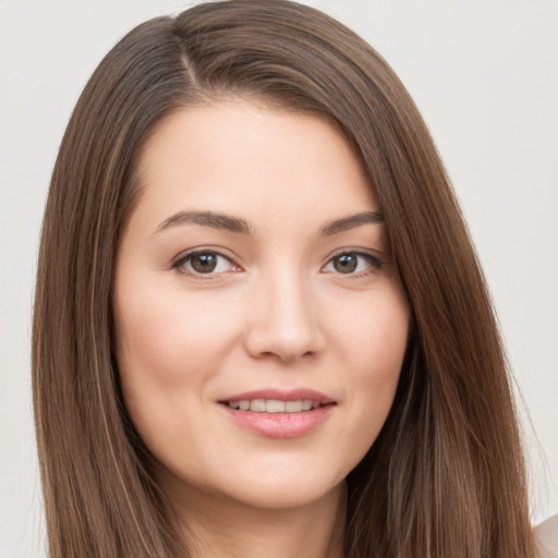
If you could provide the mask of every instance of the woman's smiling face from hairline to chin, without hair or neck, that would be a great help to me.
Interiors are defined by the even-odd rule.
[[[230,99],[141,154],[114,284],[124,400],[180,499],[342,485],[393,401],[409,308],[359,160],[326,121]]]

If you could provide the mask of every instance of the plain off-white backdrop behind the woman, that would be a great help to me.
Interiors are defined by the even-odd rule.
[[[430,128],[522,393],[536,523],[558,512],[558,2],[306,3],[383,54]],[[191,4],[0,0],[0,558],[45,556],[29,332],[40,220],[63,130],[125,32]]]

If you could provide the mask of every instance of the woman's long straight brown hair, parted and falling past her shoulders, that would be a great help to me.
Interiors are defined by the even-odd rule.
[[[72,114],[43,225],[33,331],[50,555],[187,556],[123,405],[111,286],[142,142],[172,111],[227,95],[316,113],[343,132],[412,310],[393,407],[348,477],[347,557],[534,556],[502,348],[428,131],[372,47],[283,0],[208,3],[140,25]]]

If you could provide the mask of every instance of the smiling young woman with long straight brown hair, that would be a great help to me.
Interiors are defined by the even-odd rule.
[[[33,367],[52,556],[534,556],[432,140],[310,8],[199,5],[100,63],[52,177]]]

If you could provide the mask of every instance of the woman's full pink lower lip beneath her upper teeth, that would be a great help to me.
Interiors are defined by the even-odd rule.
[[[328,404],[300,413],[256,413],[222,405],[236,424],[270,438],[296,438],[304,436],[324,424],[333,407],[333,404]]]

